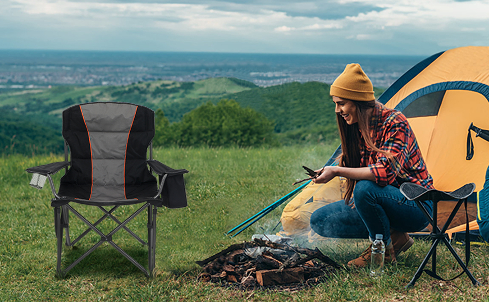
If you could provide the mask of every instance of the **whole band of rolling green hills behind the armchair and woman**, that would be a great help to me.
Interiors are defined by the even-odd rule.
[[[376,89],[379,96],[382,91]],[[197,82],[155,81],[127,86],[76,87],[0,93],[2,131],[0,146],[12,146],[13,135],[22,152],[32,149],[54,134],[60,137],[61,113],[65,108],[87,102],[128,102],[162,109],[169,122],[180,121],[184,114],[200,105],[221,99],[234,99],[274,121],[274,131],[282,143],[322,142],[337,138],[334,103],[329,85],[319,82],[289,83],[262,88],[253,83],[216,78]],[[32,131],[30,131],[32,129]],[[33,133],[42,132],[35,138]],[[59,140],[62,142],[62,140]],[[52,138],[45,150],[57,150]],[[19,150],[20,150],[19,149]],[[19,151],[20,152],[20,151]]]

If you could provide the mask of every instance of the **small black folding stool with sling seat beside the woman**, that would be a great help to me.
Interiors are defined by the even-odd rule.
[[[453,191],[453,192],[443,192],[435,189],[426,189],[425,187],[419,186],[414,183],[403,183],[400,187],[401,193],[409,200],[414,200],[417,204],[417,206],[421,209],[423,214],[426,216],[426,218],[430,221],[430,224],[432,225],[432,232],[430,234],[431,238],[433,239],[433,244],[430,248],[430,251],[424,257],[424,260],[421,262],[421,265],[417,269],[416,273],[414,274],[414,277],[411,279],[411,281],[406,285],[406,287],[411,287],[414,286],[414,283],[416,280],[421,276],[421,274],[426,272],[430,276],[443,280],[438,274],[437,274],[437,247],[440,242],[443,242],[450,253],[455,257],[455,260],[458,262],[458,264],[462,267],[463,272],[460,273],[459,275],[455,276],[451,280],[461,276],[463,273],[466,273],[467,276],[469,277],[470,281],[472,282],[473,285],[479,285],[479,282],[475,280],[475,278],[472,276],[470,271],[467,268],[469,259],[470,259],[470,240],[468,240],[469,236],[469,230],[468,230],[468,224],[467,224],[467,230],[466,230],[466,242],[465,242],[465,264],[463,261],[460,259],[460,257],[457,255],[457,252],[454,250],[454,248],[450,245],[450,242],[448,240],[448,234],[445,232],[448,229],[448,226],[452,222],[453,218],[455,217],[455,214],[459,210],[460,206],[462,203],[465,203],[465,207],[467,207],[467,198],[472,194],[472,192],[475,190],[475,184],[470,183],[466,184],[459,189]],[[437,217],[437,210],[438,210],[438,202],[441,200],[457,200],[457,204],[453,208],[450,216],[448,217],[447,221],[445,222],[445,225],[443,228],[440,230],[438,227],[438,217]],[[426,207],[423,204],[423,201],[426,200],[431,200],[433,201],[433,212],[432,214],[429,213],[429,211],[426,209]],[[468,223],[468,217],[467,217],[467,223]],[[428,263],[428,261],[432,258],[432,269],[431,270],[424,270],[424,267]]]

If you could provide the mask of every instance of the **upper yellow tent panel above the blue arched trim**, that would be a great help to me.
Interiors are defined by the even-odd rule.
[[[404,85],[386,106],[395,108],[411,93],[443,82],[468,81],[489,85],[489,47],[460,47],[445,51],[428,68]]]

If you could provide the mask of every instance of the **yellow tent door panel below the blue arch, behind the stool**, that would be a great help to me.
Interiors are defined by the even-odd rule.
[[[473,182],[476,191],[482,189],[489,163],[489,143],[472,133],[474,157],[467,161],[466,142],[470,123],[489,129],[488,113],[489,102],[479,93],[461,90],[445,93],[424,158],[435,188],[453,191]]]

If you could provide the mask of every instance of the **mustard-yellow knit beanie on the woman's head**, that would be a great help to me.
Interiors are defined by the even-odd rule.
[[[348,64],[331,84],[329,94],[354,101],[374,101],[374,86],[359,64]]]

